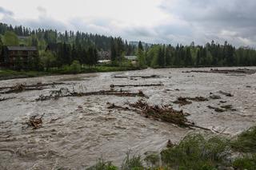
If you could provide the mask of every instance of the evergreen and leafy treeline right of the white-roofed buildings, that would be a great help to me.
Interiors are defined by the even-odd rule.
[[[224,45],[153,45],[144,52],[146,65],[159,66],[251,66],[256,65],[256,51],[246,47],[235,49]]]

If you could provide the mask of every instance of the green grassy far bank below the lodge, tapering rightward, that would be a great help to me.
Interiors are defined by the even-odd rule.
[[[101,72],[118,72],[145,69],[137,66],[110,66],[110,65],[97,65],[94,67],[84,66],[80,69],[72,69],[70,66],[64,66],[60,69],[51,68],[47,71],[26,71],[26,70],[12,70],[12,69],[0,69],[0,81],[14,78],[25,77],[41,77],[50,75],[62,75],[62,74],[78,74],[78,73],[101,73]]]

